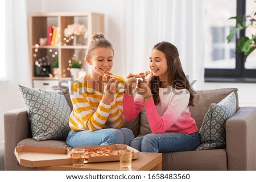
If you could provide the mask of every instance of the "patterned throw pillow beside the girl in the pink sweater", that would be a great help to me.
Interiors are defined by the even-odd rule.
[[[199,130],[201,145],[196,150],[221,149],[226,145],[226,120],[236,112],[236,95],[226,96],[218,104],[211,104]]]

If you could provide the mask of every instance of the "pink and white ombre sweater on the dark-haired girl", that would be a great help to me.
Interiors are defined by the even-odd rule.
[[[152,133],[180,132],[191,134],[198,131],[195,120],[189,112],[189,91],[172,87],[159,88],[160,103],[155,106],[154,100],[144,102],[143,96],[125,94],[123,112],[126,121],[133,121],[143,107]]]

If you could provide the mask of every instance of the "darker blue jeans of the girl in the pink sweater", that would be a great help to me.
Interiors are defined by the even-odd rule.
[[[168,153],[175,151],[195,150],[200,145],[199,132],[185,133],[162,133],[138,136],[131,141],[130,146],[147,153]]]

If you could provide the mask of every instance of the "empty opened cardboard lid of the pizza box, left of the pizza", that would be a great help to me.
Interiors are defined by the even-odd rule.
[[[17,146],[14,154],[20,165],[25,167],[44,167],[72,164],[68,149],[64,147]]]

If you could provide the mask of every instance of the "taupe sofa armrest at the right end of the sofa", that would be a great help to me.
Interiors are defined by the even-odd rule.
[[[241,107],[226,122],[228,170],[256,170],[256,107]]]

